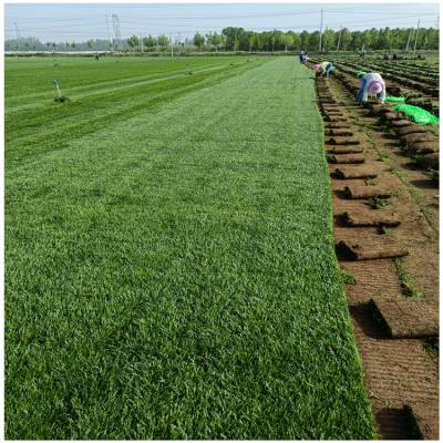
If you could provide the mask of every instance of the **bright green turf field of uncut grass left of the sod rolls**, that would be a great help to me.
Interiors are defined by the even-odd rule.
[[[375,436],[311,75],[7,60],[8,439]]]

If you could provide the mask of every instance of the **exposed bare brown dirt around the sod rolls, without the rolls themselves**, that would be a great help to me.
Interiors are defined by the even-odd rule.
[[[385,137],[378,119],[356,106],[350,93],[338,82],[327,81],[330,92],[341,104],[352,140],[359,142],[365,157],[364,167],[374,168],[377,178],[338,179],[331,177],[334,216],[344,212],[389,210],[400,219],[399,227],[381,234],[375,227],[334,227],[340,237],[389,238],[403,245],[409,255],[401,258],[403,268],[425,299],[437,299],[439,288],[439,207],[436,188],[421,171],[408,168],[405,157],[393,148],[398,143]],[[327,125],[327,123],[326,123]],[[326,146],[327,148],[327,146]],[[406,161],[410,163],[410,161]],[[330,164],[330,172],[337,165]],[[365,200],[343,197],[346,185],[378,185],[392,189],[389,205],[370,209]],[[337,217],[336,217],[337,220]],[[348,234],[349,233],[349,234]],[[387,244],[390,241],[387,241]],[[408,300],[398,268],[392,259],[362,261],[340,260],[340,266],[354,277],[347,285],[356,342],[362,359],[365,385],[380,436],[388,440],[436,439],[439,436],[437,364],[419,339],[392,339],[378,321],[370,300]],[[408,408],[405,408],[408,406]]]

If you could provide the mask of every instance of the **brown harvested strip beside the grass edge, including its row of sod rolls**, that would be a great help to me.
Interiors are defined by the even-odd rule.
[[[336,250],[350,275],[347,297],[374,422],[383,440],[437,439],[437,364],[420,339],[439,332],[437,303],[432,301],[439,288],[437,206],[432,216],[424,206],[437,189],[422,171],[414,169],[413,178],[411,169],[402,174],[395,151],[392,163],[387,161],[392,147],[433,143],[434,135],[399,124],[402,119],[390,106],[379,106],[377,113],[357,106],[332,79],[317,76],[317,89]],[[402,134],[383,134],[381,122],[396,123],[391,127],[403,128]],[[357,154],[363,164],[338,165],[340,156],[346,163]]]

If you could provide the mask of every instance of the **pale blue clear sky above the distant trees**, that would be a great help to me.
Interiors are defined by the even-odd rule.
[[[6,4],[6,39],[21,37],[41,41],[107,39],[106,16],[112,35],[112,14],[119,16],[122,38],[161,33],[189,37],[199,31],[222,31],[243,27],[248,30],[351,30],[368,28],[437,27],[439,3],[17,3]]]

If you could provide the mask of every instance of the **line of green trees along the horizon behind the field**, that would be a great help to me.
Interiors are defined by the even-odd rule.
[[[367,50],[404,50],[408,45],[420,50],[439,49],[439,30],[435,28],[403,29],[383,28],[368,29],[364,31],[350,31],[326,29],[321,33],[321,50],[359,51]],[[319,51],[319,31],[248,31],[244,28],[225,28],[220,33],[206,34],[196,32],[193,38],[173,39],[173,45],[186,52],[194,51],[248,51],[248,52],[277,52],[277,51]],[[171,48],[171,38],[165,34],[138,38],[132,35],[122,40],[87,40],[85,42],[40,42],[35,38],[6,40],[6,51],[144,51],[162,52]]]

